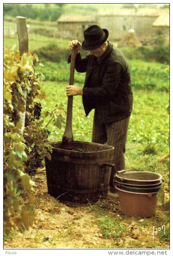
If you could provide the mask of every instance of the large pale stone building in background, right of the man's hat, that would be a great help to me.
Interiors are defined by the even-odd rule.
[[[143,45],[151,45],[160,29],[153,24],[161,15],[169,17],[169,9],[105,9],[97,14],[97,21],[99,26],[109,30],[109,40],[112,42],[120,42],[130,29],[134,29]],[[164,29],[168,31],[168,27],[162,27],[162,31]]]

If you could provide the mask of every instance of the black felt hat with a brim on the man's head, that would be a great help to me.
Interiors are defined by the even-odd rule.
[[[82,42],[82,48],[84,50],[94,50],[108,39],[109,32],[107,29],[93,25],[87,28],[83,35],[85,40]]]

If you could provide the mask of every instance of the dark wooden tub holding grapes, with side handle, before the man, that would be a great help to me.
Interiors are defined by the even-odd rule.
[[[73,150],[53,147],[51,161],[45,157],[48,194],[68,206],[95,203],[107,197],[114,148],[98,143],[74,141]]]

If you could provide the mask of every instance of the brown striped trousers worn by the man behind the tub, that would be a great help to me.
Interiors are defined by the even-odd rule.
[[[113,180],[117,171],[125,169],[124,155],[129,120],[130,117],[127,117],[120,121],[99,124],[97,116],[94,114],[92,142],[106,144],[115,148],[113,157],[115,166],[112,167],[111,171],[110,187],[114,186]]]

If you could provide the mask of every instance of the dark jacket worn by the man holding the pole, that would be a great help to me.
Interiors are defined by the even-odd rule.
[[[70,58],[68,59],[68,63]],[[118,48],[108,42],[100,58],[76,55],[77,72],[86,72],[83,106],[86,116],[95,108],[100,123],[114,122],[131,115],[133,94],[129,65]]]

